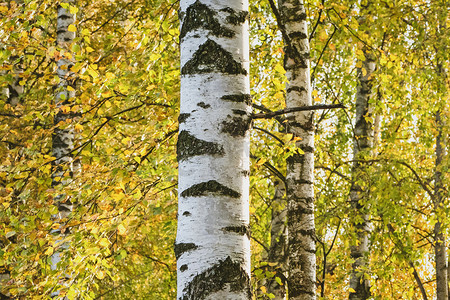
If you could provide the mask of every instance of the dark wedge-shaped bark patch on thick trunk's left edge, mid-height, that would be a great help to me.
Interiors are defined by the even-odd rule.
[[[222,145],[200,140],[186,130],[178,134],[177,159],[178,161],[197,155],[224,155]]]

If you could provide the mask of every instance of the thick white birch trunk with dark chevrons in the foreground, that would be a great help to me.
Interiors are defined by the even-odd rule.
[[[177,299],[251,299],[247,1],[180,2]]]

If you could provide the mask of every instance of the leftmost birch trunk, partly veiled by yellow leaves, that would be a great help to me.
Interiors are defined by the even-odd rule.
[[[73,5],[74,1],[66,1]],[[55,95],[56,115],[54,118],[55,130],[52,136],[52,154],[55,157],[53,163],[52,186],[67,185],[73,174],[73,158],[72,151],[74,149],[74,133],[71,126],[67,126],[73,115],[67,112],[72,101],[75,98],[75,75],[70,71],[73,65],[73,58],[70,52],[71,44],[75,38],[75,32],[69,31],[68,27],[75,23],[75,15],[69,10],[58,6],[57,15],[57,45],[60,50],[61,58],[57,61],[57,75],[59,84]],[[69,110],[70,111],[70,110]],[[65,128],[61,128],[65,127]],[[72,211],[70,200],[65,199],[63,193],[56,194],[54,201],[58,205],[58,214],[55,216],[55,222],[60,226],[65,221],[69,213]],[[51,257],[51,268],[56,270],[57,264],[61,261],[61,249],[67,248],[67,244],[63,242],[64,232],[60,229],[53,231],[56,241],[54,248],[55,253]],[[59,248],[59,249],[58,249]],[[64,276],[68,277],[67,274]],[[59,291],[52,294],[55,297]]]

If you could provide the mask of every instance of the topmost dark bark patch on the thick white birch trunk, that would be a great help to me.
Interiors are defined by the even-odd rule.
[[[233,37],[235,32],[220,25],[216,12],[200,1],[195,1],[186,10],[186,17],[181,26],[180,39],[184,38],[190,31],[204,28],[215,36]]]

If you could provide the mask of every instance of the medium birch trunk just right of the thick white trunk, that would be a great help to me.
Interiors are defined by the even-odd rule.
[[[291,42],[285,41],[286,107],[309,106],[312,101],[305,7],[298,0],[281,0],[278,5]],[[298,112],[287,123],[288,131],[299,138],[296,142],[299,151],[287,159],[286,171],[291,300],[316,299],[313,116],[311,111]]]

